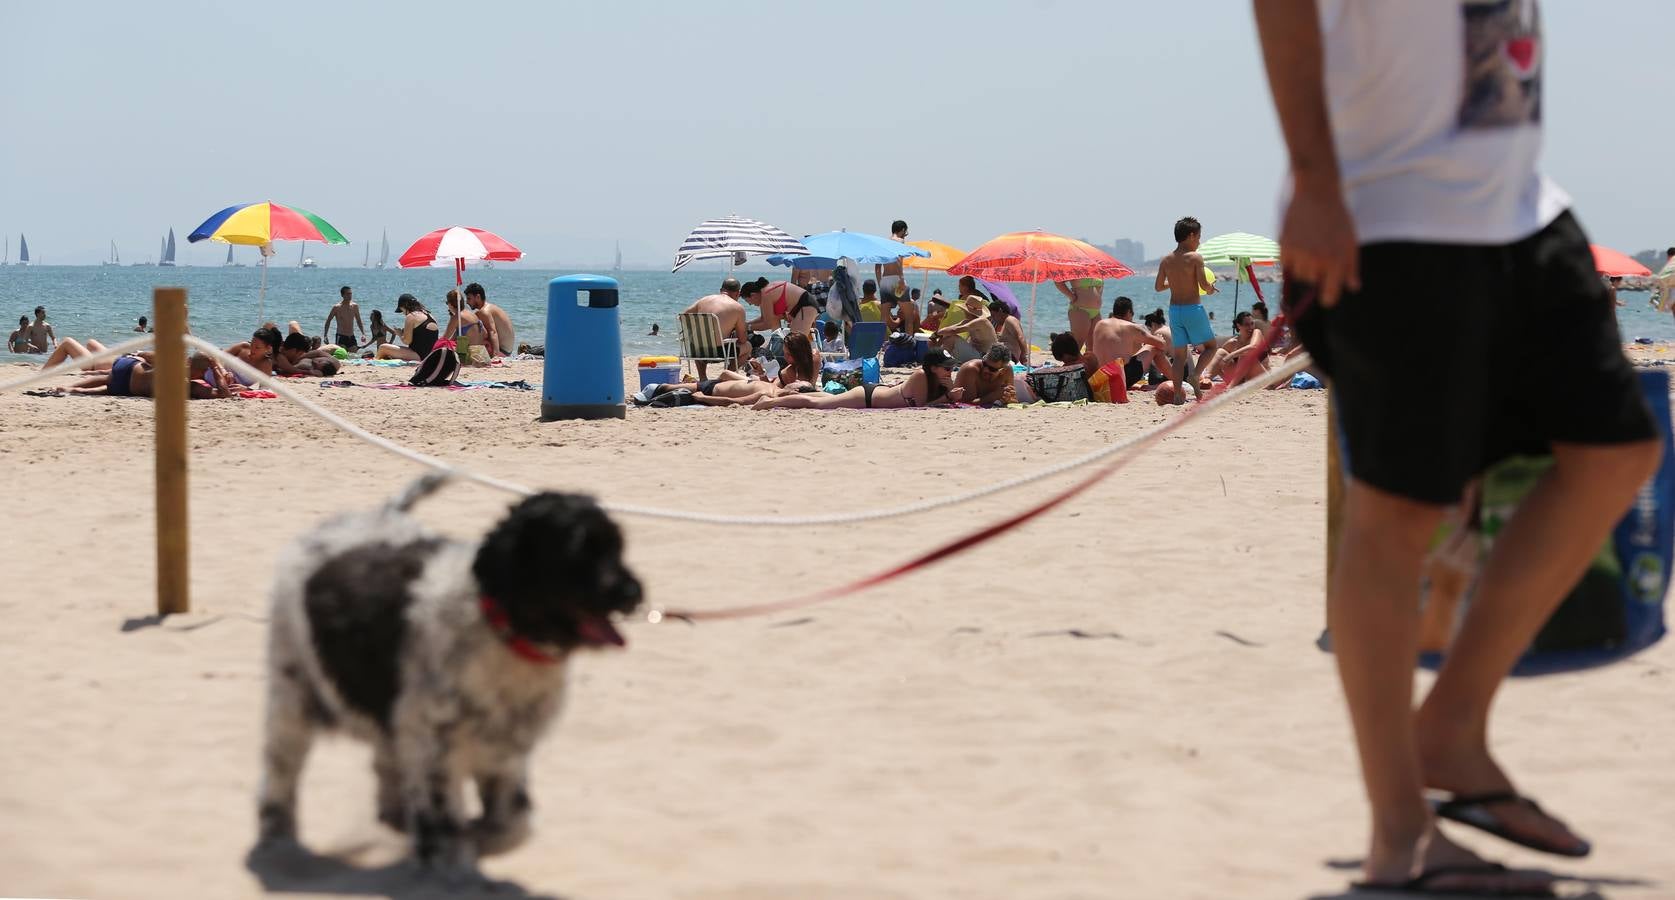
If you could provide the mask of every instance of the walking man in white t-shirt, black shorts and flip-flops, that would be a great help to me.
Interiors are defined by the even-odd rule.
[[[1372,804],[1363,875],[1420,892],[1541,895],[1551,877],[1497,868],[1435,821],[1590,851],[1494,761],[1489,704],[1657,469],[1660,446],[1588,238],[1536,166],[1536,3],[1255,7],[1290,151],[1288,310],[1333,379],[1350,476],[1328,605]],[[1430,287],[1409,290],[1414,273]],[[1444,327],[1420,335],[1405,322]],[[1531,369],[1529,359],[1568,362]],[[1514,369],[1526,377],[1497,377]],[[1415,370],[1442,391],[1415,391]],[[1466,484],[1518,451],[1548,451],[1554,464],[1497,535],[1415,714],[1420,563]],[[1425,789],[1452,798],[1434,813]]]

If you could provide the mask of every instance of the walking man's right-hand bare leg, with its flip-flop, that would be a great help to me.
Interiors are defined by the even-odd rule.
[[[1655,441],[1553,447],[1553,469],[1496,538],[1452,652],[1415,717],[1427,786],[1461,794],[1513,788],[1489,754],[1494,694],[1657,471],[1658,453]],[[1581,846],[1563,823],[1529,806],[1491,809],[1519,835]]]

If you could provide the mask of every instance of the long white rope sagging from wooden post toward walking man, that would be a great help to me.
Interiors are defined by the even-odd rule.
[[[511,494],[529,496],[529,494],[534,493],[534,489],[524,488],[523,484],[514,484],[511,481],[504,481],[504,479],[499,479],[499,478],[494,478],[494,476],[489,476],[489,474],[482,474],[482,473],[467,469],[464,466],[456,466],[456,464],[447,463],[444,459],[437,459],[434,456],[419,453],[415,449],[404,447],[404,446],[400,446],[400,444],[397,444],[397,442],[394,442],[394,441],[390,441],[387,437],[380,437],[377,434],[372,434],[370,431],[367,431],[367,429],[363,429],[363,427],[360,427],[360,426],[357,426],[357,424],[343,419],[342,416],[338,416],[338,414],[335,414],[335,412],[332,412],[332,411],[328,411],[328,409],[315,404],[313,401],[308,401],[308,399],[302,397],[300,394],[296,394],[295,391],[291,391],[285,384],[281,384],[278,379],[273,379],[273,377],[270,377],[270,375],[256,370],[255,367],[251,367],[245,360],[223,352],[219,347],[216,347],[214,344],[209,344],[208,340],[203,340],[203,339],[198,339],[198,337],[188,337],[186,342],[189,345],[193,345],[193,347],[198,347],[204,354],[208,354],[208,355],[221,360],[221,364],[231,367],[234,372],[240,372],[246,379],[250,379],[250,380],[253,380],[256,384],[261,384],[263,387],[266,387],[268,391],[273,391],[280,397],[285,397],[286,401],[291,401],[293,404],[303,407],[305,411],[312,412],[318,419],[322,419],[322,421],[325,421],[325,422],[328,422],[332,426],[337,426],[338,429],[348,432],[350,436],[358,437],[358,439],[362,439],[362,441],[365,441],[365,442],[368,442],[368,444],[372,444],[375,447],[385,449],[389,453],[394,453],[397,456],[402,456],[405,459],[419,463],[420,466],[427,466],[430,469],[436,469],[436,471],[441,471],[441,473],[447,473],[447,474],[456,476],[456,478],[464,478],[467,481],[476,481],[479,484],[484,484],[484,486],[489,486],[489,488],[496,488],[499,491],[506,491],[506,493],[511,493]],[[1290,380],[1291,375],[1301,372],[1312,362],[1313,360],[1308,357],[1308,354],[1298,354],[1295,359],[1291,359],[1285,365],[1281,365],[1278,369],[1273,369],[1273,370],[1270,370],[1270,372],[1266,372],[1263,375],[1258,375],[1258,377],[1255,377],[1255,379],[1251,379],[1251,380],[1248,380],[1248,382],[1245,382],[1245,384],[1241,384],[1241,385],[1238,385],[1238,387],[1234,387],[1231,391],[1226,391],[1226,392],[1223,392],[1219,397],[1216,397],[1213,401],[1208,401],[1204,404],[1204,407],[1203,407],[1201,416],[1214,412],[1216,409],[1219,409],[1219,407],[1223,407],[1226,404],[1231,404],[1231,402],[1234,402],[1238,399],[1243,399],[1243,397],[1246,397],[1246,396],[1250,396],[1250,394],[1253,394],[1256,391],[1263,391],[1263,389],[1266,389],[1266,387],[1270,387],[1273,384],[1280,384],[1281,380]],[[878,508],[878,509],[861,509],[861,511],[854,511],[854,513],[826,513],[826,515],[814,515],[814,516],[789,516],[789,518],[787,516],[729,516],[729,515],[715,515],[715,513],[687,513],[687,511],[682,511],[682,509],[662,509],[662,508],[657,508],[657,506],[638,506],[638,504],[630,504],[630,503],[605,503],[605,501],[601,501],[600,506],[603,509],[610,511],[610,513],[616,513],[616,515],[623,515],[623,516],[642,516],[642,518],[658,518],[658,520],[672,520],[672,521],[690,521],[690,523],[702,523],[702,525],[792,525],[792,526],[796,526],[796,525],[849,525],[849,523],[858,523],[858,521],[878,521],[878,520],[911,516],[911,515],[926,513],[926,511],[931,511],[931,509],[941,509],[945,506],[958,506],[961,503],[970,503],[973,499],[980,499],[980,498],[985,498],[985,496],[998,494],[998,493],[1003,493],[1003,491],[1012,491],[1012,489],[1022,488],[1025,484],[1033,484],[1037,481],[1044,481],[1044,479],[1054,478],[1057,474],[1064,474],[1067,471],[1079,469],[1082,466],[1087,466],[1089,463],[1097,463],[1097,461],[1106,459],[1109,456],[1119,454],[1119,453],[1122,453],[1126,449],[1131,449],[1131,447],[1134,447],[1137,444],[1144,444],[1144,442],[1151,441],[1164,427],[1167,427],[1167,422],[1152,426],[1152,427],[1149,427],[1149,429],[1146,429],[1142,432],[1137,432],[1137,434],[1132,434],[1129,437],[1124,437],[1122,441],[1117,441],[1114,444],[1107,444],[1104,447],[1094,449],[1094,451],[1085,453],[1082,456],[1077,456],[1074,459],[1067,459],[1064,463],[1059,463],[1059,464],[1054,464],[1054,466],[1047,466],[1044,469],[1038,469],[1038,471],[1033,471],[1033,473],[1028,473],[1028,474],[1022,474],[1022,476],[1017,476],[1017,478],[1008,478],[1005,481],[997,481],[993,484],[985,484],[982,488],[975,488],[972,491],[965,491],[965,493],[960,493],[960,494],[950,494],[950,496],[943,496],[943,498],[921,499],[921,501],[908,503],[908,504],[903,504],[903,506],[888,506],[888,508]]]

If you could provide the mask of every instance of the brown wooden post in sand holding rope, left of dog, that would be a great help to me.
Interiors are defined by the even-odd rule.
[[[186,521],[186,288],[154,288],[152,414],[157,427],[157,615],[191,610]]]

